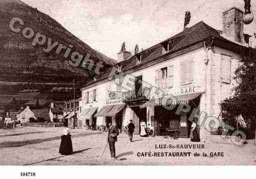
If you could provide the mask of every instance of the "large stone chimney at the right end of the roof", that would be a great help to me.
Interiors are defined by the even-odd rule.
[[[244,44],[244,12],[232,7],[223,12],[223,36],[231,41]]]

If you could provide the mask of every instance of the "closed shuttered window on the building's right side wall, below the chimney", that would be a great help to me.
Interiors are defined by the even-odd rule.
[[[231,83],[231,56],[221,55],[221,82]]]

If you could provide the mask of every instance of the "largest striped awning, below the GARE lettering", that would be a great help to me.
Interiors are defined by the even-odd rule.
[[[168,95],[161,98],[152,98],[148,102],[142,104],[140,108],[146,107],[153,107],[153,106],[163,106],[163,105],[172,105],[172,104],[188,104],[193,99],[197,98],[204,92],[199,93],[191,93],[191,94],[184,94],[184,95]]]

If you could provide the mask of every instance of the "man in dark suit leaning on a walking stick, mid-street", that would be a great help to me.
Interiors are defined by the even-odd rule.
[[[112,124],[110,121],[108,123],[109,130],[108,130],[108,144],[111,159],[116,159],[116,150],[115,150],[115,142],[117,141],[117,136],[119,135],[118,129]]]

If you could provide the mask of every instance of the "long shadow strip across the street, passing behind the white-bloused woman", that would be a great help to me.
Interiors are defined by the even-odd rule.
[[[98,132],[98,133],[76,134],[76,135],[72,135],[72,138],[79,138],[79,137],[85,137],[85,136],[96,135],[96,134],[101,134],[101,133]],[[26,141],[2,142],[2,143],[0,143],[0,149],[11,148],[11,147],[22,147],[22,146],[26,146],[26,145],[30,145],[30,144],[49,142],[49,141],[55,141],[55,140],[60,140],[60,139],[61,139],[60,136],[56,136],[56,137],[51,137],[51,138],[33,139],[33,140],[26,140]]]

